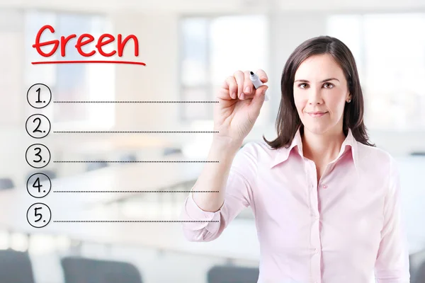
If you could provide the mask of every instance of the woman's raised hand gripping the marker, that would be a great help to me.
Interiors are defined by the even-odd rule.
[[[256,74],[263,83],[268,81],[265,71],[259,69]],[[218,131],[214,139],[242,144],[254,127],[268,86],[256,89],[249,77],[249,71],[235,71],[222,83],[214,108],[214,130]]]

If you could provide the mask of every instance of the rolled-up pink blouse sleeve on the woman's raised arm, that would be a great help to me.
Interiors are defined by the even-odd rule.
[[[225,200],[217,212],[198,207],[192,193],[186,197],[180,219],[183,233],[189,241],[212,241],[227,227],[239,212],[249,207],[256,180],[256,149],[247,143],[234,156],[225,186]],[[202,190],[202,187],[198,187]]]

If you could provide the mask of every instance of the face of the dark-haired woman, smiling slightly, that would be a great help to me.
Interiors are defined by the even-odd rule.
[[[344,107],[351,94],[344,72],[331,55],[305,59],[295,72],[293,88],[304,129],[315,134],[342,131]]]

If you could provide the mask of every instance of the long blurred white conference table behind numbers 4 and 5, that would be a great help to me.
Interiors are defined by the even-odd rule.
[[[174,154],[162,160],[185,161],[187,158]],[[144,195],[149,197],[171,194],[161,191],[182,185],[184,187],[186,184],[185,190],[175,192],[181,194],[182,199],[182,196],[189,194],[187,184],[196,181],[203,166],[203,163],[128,163],[108,166],[79,175],[52,179],[50,193],[41,199],[31,197],[26,187],[3,190],[0,192],[0,207],[4,212],[0,214],[0,229],[28,235],[66,236],[83,243],[144,246],[219,258],[258,260],[259,245],[255,225],[250,220],[234,221],[217,241],[193,243],[184,238],[180,222],[133,222],[140,221],[140,218],[128,219],[119,208],[113,208],[116,202],[142,201]],[[42,184],[47,184],[45,182]],[[156,204],[161,205],[160,201]],[[28,208],[37,202],[46,204],[52,215],[47,226],[42,228],[35,228],[27,221]],[[145,209],[142,203],[140,209]],[[179,220],[179,214],[166,219],[149,219],[156,220]],[[246,237],[243,246],[238,245],[240,235]],[[246,249],[245,245],[250,248]]]

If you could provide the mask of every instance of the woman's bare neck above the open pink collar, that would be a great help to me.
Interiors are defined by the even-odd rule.
[[[341,145],[346,139],[344,132],[329,131],[326,134],[314,134],[304,129],[302,134],[302,152],[314,162],[329,163],[338,156]]]

